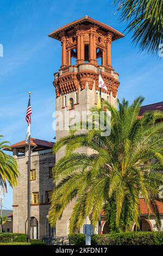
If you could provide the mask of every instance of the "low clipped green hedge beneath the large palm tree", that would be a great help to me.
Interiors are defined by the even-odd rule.
[[[83,234],[69,235],[73,245],[85,245]],[[125,233],[110,233],[93,235],[92,245],[163,245],[163,231],[132,231]]]

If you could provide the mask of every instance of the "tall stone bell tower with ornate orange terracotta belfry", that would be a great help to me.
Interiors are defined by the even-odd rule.
[[[120,82],[111,65],[111,44],[124,35],[86,15],[56,29],[49,36],[59,40],[62,47],[61,67],[54,73],[53,82],[56,111],[60,111],[63,117],[70,115],[71,111],[77,111],[82,117],[83,111],[89,111],[92,106],[96,106],[99,66],[102,67],[102,78],[108,89],[102,89],[102,98],[116,106]],[[67,132],[66,129],[57,129],[56,140],[66,136]],[[60,150],[56,160],[63,155],[64,151]],[[60,224],[57,225],[57,235],[68,234],[71,209],[71,206],[66,208],[66,214],[64,212],[62,215]]]

